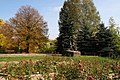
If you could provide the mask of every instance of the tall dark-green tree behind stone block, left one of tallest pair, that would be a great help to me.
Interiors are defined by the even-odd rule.
[[[77,50],[77,32],[80,26],[79,9],[80,0],[66,0],[60,11],[59,37],[57,38],[57,50]]]

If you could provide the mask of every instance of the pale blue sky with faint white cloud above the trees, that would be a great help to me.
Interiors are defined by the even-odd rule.
[[[65,0],[0,0],[0,18],[9,20],[14,17],[21,6],[31,5],[37,9],[48,24],[49,38],[59,35],[59,12]],[[93,0],[102,21],[108,25],[110,17],[120,24],[120,0]]]

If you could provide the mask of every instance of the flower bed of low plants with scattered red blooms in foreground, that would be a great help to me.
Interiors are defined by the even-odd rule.
[[[120,60],[101,57],[44,57],[6,63],[0,73],[8,80],[119,80]]]

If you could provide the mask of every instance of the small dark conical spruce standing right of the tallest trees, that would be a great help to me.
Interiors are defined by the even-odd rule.
[[[104,26],[104,23],[100,24],[99,32],[97,32],[96,37],[98,51],[111,46],[113,38],[109,29]]]

